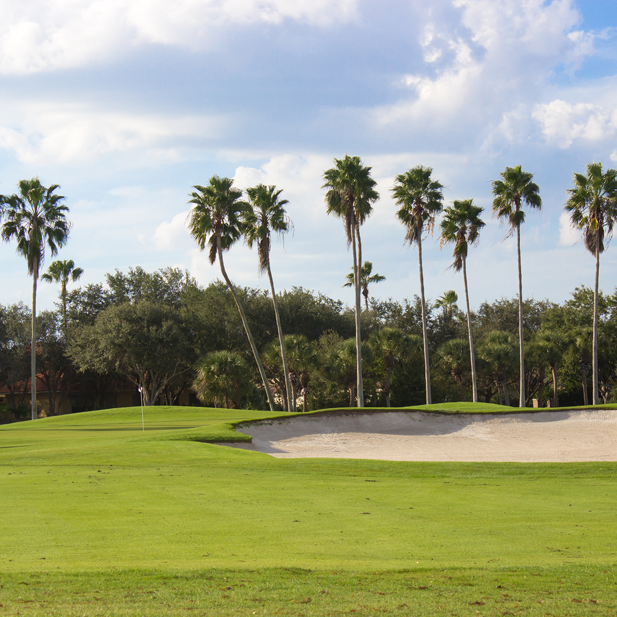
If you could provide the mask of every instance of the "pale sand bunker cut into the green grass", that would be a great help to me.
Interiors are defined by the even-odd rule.
[[[278,458],[399,461],[617,460],[617,410],[537,413],[349,412],[278,418],[238,429]]]

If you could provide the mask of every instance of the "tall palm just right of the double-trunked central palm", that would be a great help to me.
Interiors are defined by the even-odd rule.
[[[405,241],[410,246],[418,245],[420,266],[420,299],[422,304],[422,337],[424,339],[424,381],[426,383],[426,404],[431,404],[431,369],[428,355],[428,333],[426,331],[426,302],[424,300],[424,272],[422,268],[422,234],[432,233],[435,217],[442,209],[444,185],[433,180],[433,168],[418,165],[396,176],[391,189],[395,202],[400,205],[396,213],[405,225]]]

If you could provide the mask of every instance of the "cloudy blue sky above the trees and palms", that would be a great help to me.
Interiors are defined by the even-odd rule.
[[[522,231],[523,293],[563,301],[594,260],[562,213],[574,171],[617,167],[617,2],[605,0],[0,0],[0,193],[59,183],[73,230],[60,259],[81,283],[141,266],[219,276],[184,224],[188,193],[213,174],[276,184],[295,232],[272,251],[278,288],[352,302],[351,257],[325,213],[321,173],[346,152],[373,167],[381,199],[363,250],[386,281],[418,293],[389,189],[433,167],[445,202],[473,199],[486,228],[468,261],[471,304],[517,291],[516,251],[491,219],[491,181],[534,172],[544,201]],[[462,298],[450,252],[423,245],[427,296]],[[236,283],[267,285],[257,256],[226,255]],[[31,297],[25,262],[0,245],[0,303]],[[46,265],[51,263],[48,255]],[[602,256],[612,292],[617,246]],[[39,286],[39,307],[57,289]]]

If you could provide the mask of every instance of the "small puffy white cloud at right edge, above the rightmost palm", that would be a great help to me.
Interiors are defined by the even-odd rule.
[[[617,130],[617,106],[611,109],[556,99],[536,105],[532,116],[539,122],[547,141],[560,148],[571,146],[575,139],[601,141],[615,135]]]

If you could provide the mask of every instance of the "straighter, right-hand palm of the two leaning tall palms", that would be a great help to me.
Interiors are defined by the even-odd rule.
[[[288,408],[291,410],[291,386],[289,383],[289,370],[287,366],[287,356],[285,354],[285,344],[283,342],[283,328],[281,328],[281,318],[278,313],[278,302],[276,302],[276,292],[274,280],[270,268],[270,245],[271,232],[274,231],[279,237],[292,228],[291,220],[285,212],[284,205],[288,204],[287,199],[280,199],[283,190],[276,190],[276,186],[265,186],[258,184],[246,190],[249,196],[249,207],[241,213],[242,230],[244,238],[249,248],[257,244],[257,257],[259,259],[259,273],[268,273],[270,281],[270,291],[272,293],[272,304],[276,317],[276,329],[278,330],[278,340],[281,347],[281,358],[283,358],[283,375],[287,390]]]

